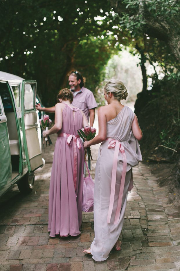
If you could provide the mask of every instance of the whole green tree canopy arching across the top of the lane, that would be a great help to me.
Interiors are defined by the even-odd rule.
[[[6,0],[0,8],[0,68],[36,79],[46,105],[73,69],[94,91],[109,58],[126,46],[139,55],[144,91],[147,60],[180,77],[179,1]]]

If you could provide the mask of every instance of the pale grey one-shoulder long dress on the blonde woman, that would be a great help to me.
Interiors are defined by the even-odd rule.
[[[134,112],[124,106],[107,122],[107,140],[100,145],[94,188],[95,238],[91,244],[96,261],[106,260],[119,238],[127,192],[133,187],[132,167],[142,160],[138,140],[131,131],[133,119]]]

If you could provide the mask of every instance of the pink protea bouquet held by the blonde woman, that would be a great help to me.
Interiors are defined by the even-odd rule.
[[[91,126],[85,126],[84,129],[80,129],[78,131],[79,136],[85,141],[85,139],[87,141],[93,139],[96,135],[96,128],[91,127]],[[92,155],[91,155],[91,149],[90,147],[88,147],[86,149],[86,153],[85,153],[85,160],[86,160],[86,156],[88,157],[88,167],[89,170],[91,170],[91,160],[93,160]]]

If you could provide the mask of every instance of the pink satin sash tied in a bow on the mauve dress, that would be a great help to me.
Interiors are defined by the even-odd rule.
[[[78,141],[78,138],[80,138],[80,136],[69,135],[66,133],[60,133],[58,136],[67,137],[67,144],[69,146],[71,145],[71,140],[73,139],[73,150],[74,150],[73,181],[74,181],[74,188],[76,190],[76,188],[77,188],[77,150],[76,150],[76,145],[78,146],[78,149],[81,148],[80,142]]]

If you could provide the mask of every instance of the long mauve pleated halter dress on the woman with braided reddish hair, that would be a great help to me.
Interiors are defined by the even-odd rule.
[[[84,148],[77,130],[83,127],[79,108],[66,105],[57,133],[49,188],[50,236],[77,236],[82,224]]]

